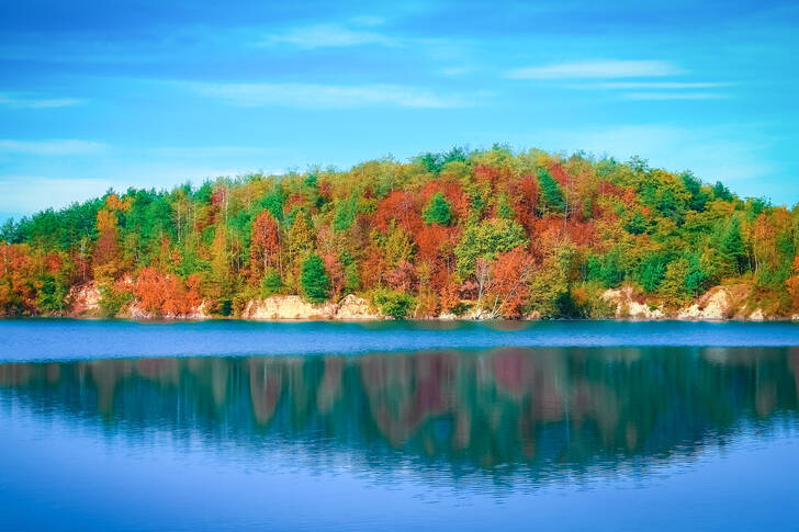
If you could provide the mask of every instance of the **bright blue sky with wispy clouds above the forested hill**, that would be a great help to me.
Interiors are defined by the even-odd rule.
[[[0,219],[494,143],[799,202],[795,1],[225,3],[0,0]]]

